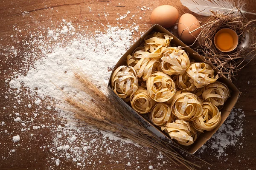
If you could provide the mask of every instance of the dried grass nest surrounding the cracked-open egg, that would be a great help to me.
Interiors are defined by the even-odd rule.
[[[239,7],[236,9],[238,10],[235,13],[212,11],[212,16],[201,26],[201,33],[198,36],[201,47],[197,49],[197,53],[205,56],[205,60],[211,62],[221,76],[230,80],[256,55],[256,20],[249,21]],[[222,28],[236,31],[239,42],[235,50],[224,53],[215,47],[214,36]]]

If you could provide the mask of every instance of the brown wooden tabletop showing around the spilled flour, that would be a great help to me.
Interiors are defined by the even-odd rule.
[[[245,5],[246,10],[250,12],[256,12],[256,0],[246,0],[247,4]],[[183,13],[191,13],[187,8],[183,7],[179,0],[1,0],[0,2],[0,122],[4,121],[6,124],[12,122],[13,119],[9,114],[22,112],[30,112],[25,107],[13,108],[13,103],[15,102],[14,94],[9,95],[9,98],[6,99],[6,92],[8,91],[8,86],[5,83],[6,78],[9,78],[11,71],[18,70],[22,65],[20,58],[8,59],[4,54],[4,47],[11,47],[12,44],[15,48],[20,49],[20,55],[22,56],[24,52],[29,49],[13,43],[9,38],[10,35],[16,35],[17,31],[15,28],[22,30],[19,32],[19,36],[15,38],[18,40],[29,40],[30,31],[40,31],[41,33],[47,32],[47,27],[58,26],[62,19],[67,21],[72,21],[73,24],[81,26],[89,26],[86,32],[94,31],[95,29],[100,29],[104,32],[103,25],[110,24],[111,26],[120,26],[120,23],[124,25],[128,24],[128,27],[135,22],[139,26],[139,32],[134,34],[134,38],[140,37],[140,32],[145,32],[148,28],[151,27],[149,16],[151,10],[156,8],[159,5],[172,5],[175,6],[180,15]],[[146,6],[150,10],[142,11],[140,8]],[[88,10],[90,8],[90,10]],[[123,20],[117,21],[116,18],[119,14],[125,14],[127,11],[131,11],[131,14],[135,14],[133,22],[128,22],[130,19],[127,17]],[[108,12],[108,20],[105,19],[104,13]],[[144,14],[145,12],[145,14]],[[99,14],[99,15],[98,15]],[[194,14],[195,15],[195,14]],[[207,18],[195,15],[198,20],[205,21]],[[139,17],[142,17],[140,20]],[[249,18],[255,19],[255,16],[248,16]],[[96,23],[96,25],[94,25]],[[77,29],[77,31],[81,31]],[[171,28],[174,34],[177,35],[177,32],[174,28]],[[256,169],[256,113],[255,113],[255,102],[256,102],[256,61],[251,62],[246,68],[239,72],[237,81],[234,80],[234,84],[242,92],[239,101],[236,104],[236,108],[242,108],[245,112],[244,128],[243,128],[243,137],[241,137],[241,142],[243,147],[239,149],[235,147],[229,147],[225,153],[227,156],[224,156],[223,159],[218,159],[216,156],[210,156],[207,151],[199,154],[201,158],[209,161],[213,164],[210,167],[210,170],[247,170],[247,169]],[[250,84],[247,83],[250,81]],[[26,98],[26,97],[25,97]],[[29,101],[29,99],[25,99]],[[3,109],[6,107],[6,109]],[[39,112],[47,111],[44,108]],[[52,124],[58,125],[58,120],[53,122],[52,119],[43,115],[40,115],[42,119],[36,119],[35,123],[39,125]],[[10,154],[10,149],[12,149],[13,142],[11,137],[3,133],[3,126],[0,126],[0,169],[1,170],[25,170],[25,169],[49,169],[50,166],[53,169],[79,169],[76,164],[72,161],[62,161],[60,166],[55,166],[50,159],[51,156],[54,157],[54,153],[49,150],[40,148],[41,146],[47,146],[52,143],[51,131],[48,128],[41,130],[31,130],[30,132],[25,132],[29,136],[30,133],[34,134],[34,138],[24,137],[23,140],[19,143],[20,147],[15,150],[15,154]],[[16,133],[16,127],[14,124],[9,124],[9,132]],[[110,143],[111,144],[111,143]],[[113,142],[112,145],[119,145],[119,142]],[[137,155],[131,156],[131,158],[123,158],[125,152],[116,153],[114,155],[107,155],[102,151],[102,153],[97,153],[96,156],[91,155],[92,161],[101,160],[101,164],[88,165],[84,169],[136,169],[137,166],[140,166],[140,169],[148,169],[149,164],[153,165],[154,169],[157,167],[158,160],[156,156],[158,153],[152,151],[148,153],[145,151],[145,148],[135,147],[132,144],[127,144],[131,150],[137,150],[138,156],[140,157],[139,164],[136,164],[135,157]],[[30,148],[30,149],[28,149]],[[121,150],[124,150],[123,147]],[[133,151],[134,152],[134,151]],[[198,155],[198,154],[195,154]],[[97,158],[99,156],[99,158]],[[4,159],[5,158],[5,159]],[[123,158],[122,162],[116,163],[116,160]],[[227,161],[224,161],[227,159]],[[127,162],[131,161],[131,166],[127,166]],[[151,161],[150,163],[148,161]],[[167,161],[163,159],[162,161]],[[202,164],[200,161],[197,163],[203,165],[202,169],[208,169],[209,166]],[[161,162],[162,164],[162,162]],[[177,167],[175,164],[168,162],[163,164],[162,167],[158,169],[184,169],[183,167]]]

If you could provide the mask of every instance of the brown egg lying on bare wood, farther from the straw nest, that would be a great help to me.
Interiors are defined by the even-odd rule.
[[[176,23],[179,17],[178,10],[169,5],[158,6],[151,13],[151,23],[159,24],[164,28],[169,28]]]

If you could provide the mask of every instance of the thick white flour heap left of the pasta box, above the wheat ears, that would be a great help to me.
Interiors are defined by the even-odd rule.
[[[64,81],[64,77],[73,75],[72,65],[81,68],[92,79],[105,80],[107,83],[111,74],[109,69],[113,68],[131,45],[131,35],[130,30],[111,27],[107,34],[98,32],[96,37],[81,36],[72,40],[68,46],[51,48],[51,52],[30,66],[26,75],[17,73],[17,78],[12,79],[9,85],[20,89],[23,84],[31,94],[36,93],[41,99],[46,96],[60,99],[62,94],[58,88],[73,91],[69,82]],[[31,108],[31,104],[28,108]]]

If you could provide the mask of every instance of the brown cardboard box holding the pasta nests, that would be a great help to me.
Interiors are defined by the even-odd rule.
[[[134,45],[131,46],[131,48],[119,59],[119,61],[116,63],[116,66],[114,67],[113,72],[116,70],[116,68],[118,68],[121,65],[127,65],[126,63],[126,57],[128,56],[128,54],[132,54],[132,52],[139,47],[142,43],[144,43],[144,38],[148,35],[148,34],[152,34],[152,32],[162,32],[162,33],[166,33],[169,34],[170,36],[173,37],[173,40],[171,40],[171,44],[175,44],[176,46],[182,46],[185,47],[186,45],[181,42],[177,37],[175,37],[172,33],[170,33],[169,31],[167,31],[165,28],[161,27],[160,25],[155,24],[154,26],[152,26],[142,37],[140,37],[139,40],[137,40],[137,42],[134,43]],[[194,50],[192,50],[189,47],[185,47],[183,48],[187,53],[189,53],[189,58],[190,59],[194,59],[197,62],[204,62],[203,60],[203,56],[200,56],[198,54],[196,54],[196,52]],[[208,63],[210,65],[212,65],[211,63]],[[216,72],[217,70],[215,70]],[[217,72],[216,72],[217,73]],[[112,76],[111,74],[111,76]],[[212,131],[205,131],[204,133],[202,133],[200,136],[198,136],[198,139],[189,147],[184,147],[182,145],[180,145],[181,147],[187,149],[190,153],[195,153],[201,146],[203,146],[203,144],[205,142],[207,142],[207,140],[209,140],[212,135],[218,130],[218,128],[223,124],[223,122],[227,119],[227,116],[230,114],[232,108],[234,107],[234,105],[236,104],[236,101],[239,98],[240,92],[239,90],[236,88],[235,85],[233,85],[232,82],[230,82],[227,78],[224,77],[220,77],[218,79],[218,81],[221,81],[223,83],[225,83],[231,90],[231,96],[230,98],[227,99],[227,101],[224,103],[224,107],[221,109],[221,123],[218,125],[218,127],[216,127],[214,130]],[[113,92],[113,90],[111,89],[111,82],[109,81],[108,83],[108,88]],[[119,98],[120,99],[120,98]],[[122,99],[119,100],[119,102],[121,102],[125,108],[128,108],[129,111],[133,112],[134,114],[139,115],[142,119],[143,116],[141,116],[140,114],[138,114],[136,111],[134,111],[127,103],[125,103]],[[153,125],[149,120],[144,119],[146,122],[148,122],[148,124],[150,124],[151,126],[153,126],[156,130],[158,130],[160,133],[162,133],[164,136],[166,136],[167,138],[170,139],[170,136],[165,133],[162,132],[159,128],[157,128],[155,125]],[[174,141],[175,142],[175,141]],[[177,142],[176,142],[177,143]]]

